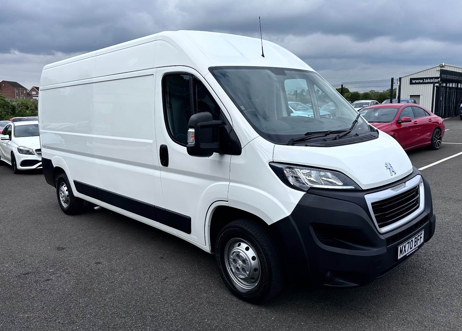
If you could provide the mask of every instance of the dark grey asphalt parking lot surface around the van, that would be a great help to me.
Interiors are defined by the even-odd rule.
[[[462,152],[462,121],[423,168]],[[451,144],[449,144],[451,143]],[[370,285],[287,289],[262,306],[225,288],[213,255],[108,210],[67,216],[41,172],[0,162],[0,330],[461,330],[462,155],[421,170],[437,229]]]

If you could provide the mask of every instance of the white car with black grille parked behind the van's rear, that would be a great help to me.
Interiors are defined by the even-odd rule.
[[[11,165],[13,173],[42,168],[38,121],[9,123],[0,134],[0,160]]]

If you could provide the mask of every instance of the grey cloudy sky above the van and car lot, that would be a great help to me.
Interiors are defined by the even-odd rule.
[[[38,85],[45,64],[163,30],[259,36],[331,84],[462,65],[462,1],[0,0],[0,80]]]

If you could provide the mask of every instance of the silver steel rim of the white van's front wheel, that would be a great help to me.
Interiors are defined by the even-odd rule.
[[[260,282],[260,260],[255,249],[241,238],[225,246],[225,264],[233,282],[242,289],[253,289]]]

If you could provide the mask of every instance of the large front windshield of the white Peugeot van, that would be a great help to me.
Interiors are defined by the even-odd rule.
[[[347,131],[358,115],[316,72],[245,66],[210,71],[255,131],[276,144],[309,132]],[[300,104],[308,109],[298,110]],[[367,130],[359,118],[350,134]]]

